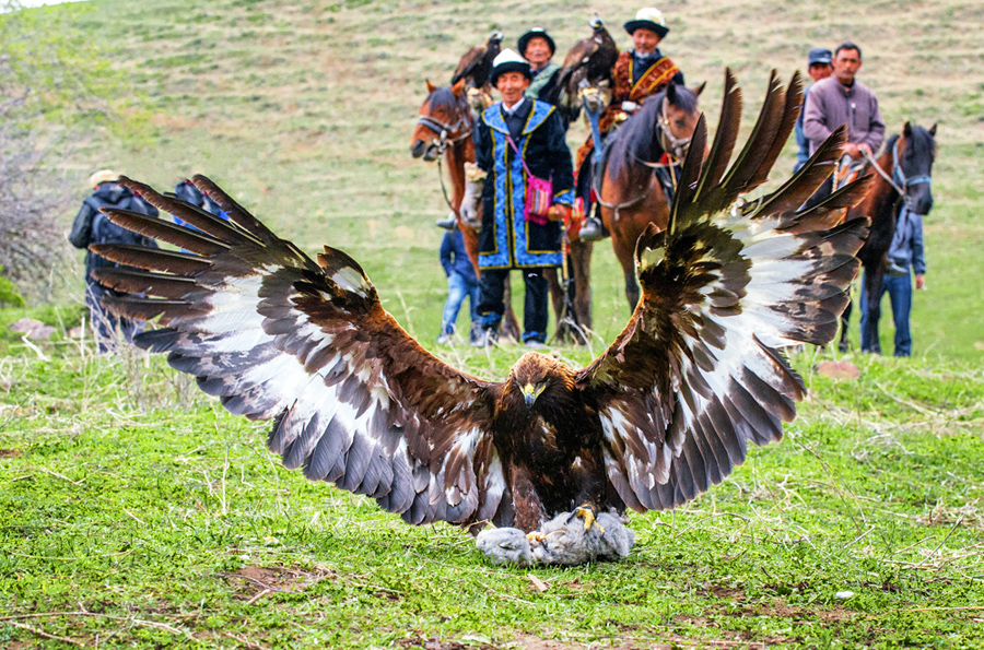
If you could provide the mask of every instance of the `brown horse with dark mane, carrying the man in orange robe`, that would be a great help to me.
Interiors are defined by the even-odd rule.
[[[703,90],[669,84],[653,95],[608,138],[597,165],[595,196],[622,264],[630,309],[639,303],[635,243],[651,223],[661,231],[669,221],[677,169],[700,119]]]

